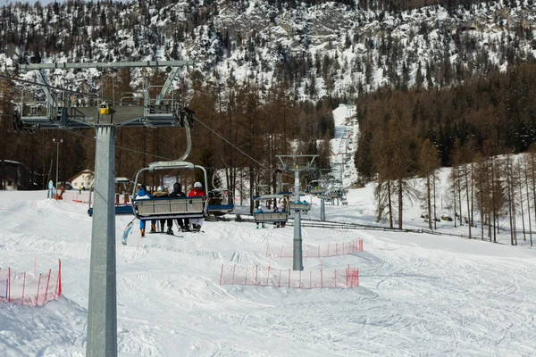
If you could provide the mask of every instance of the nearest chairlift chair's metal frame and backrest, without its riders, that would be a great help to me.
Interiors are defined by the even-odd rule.
[[[203,170],[205,177],[205,189],[208,187],[206,170],[203,166],[194,165],[191,162],[152,162],[147,168],[141,169],[136,174],[134,181],[135,197],[138,187],[139,175],[144,171],[155,170]],[[153,197],[145,199],[132,199],[132,210],[138,220],[163,220],[163,219],[187,219],[206,218],[208,214],[208,197]]]

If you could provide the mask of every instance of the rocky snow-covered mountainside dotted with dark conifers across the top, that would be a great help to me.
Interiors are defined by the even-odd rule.
[[[185,71],[202,82],[284,82],[297,99],[352,97],[386,84],[444,87],[533,61],[535,12],[531,0],[411,10],[357,1],[10,4],[0,63],[12,64],[13,43],[45,62],[188,59],[195,65]],[[99,87],[99,76],[77,72],[74,86]]]

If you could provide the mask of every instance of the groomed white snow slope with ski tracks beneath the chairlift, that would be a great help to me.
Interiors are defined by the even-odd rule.
[[[372,187],[350,190],[328,220],[373,224]],[[0,355],[83,356],[91,219],[46,192],[0,192],[1,268],[63,262],[63,296],[44,307],[0,304]],[[318,205],[306,218],[317,218]],[[408,208],[407,224],[418,208]],[[222,264],[289,269],[266,247],[293,228],[205,222],[183,237],[135,233],[116,218],[120,356],[527,356],[536,350],[536,253],[526,246],[412,233],[303,228],[304,245],[364,238],[364,252],[304,260],[306,270],[360,270],[353,289],[220,286]],[[452,231],[445,223],[443,231]]]

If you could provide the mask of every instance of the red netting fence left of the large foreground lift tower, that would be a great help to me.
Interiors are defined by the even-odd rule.
[[[0,269],[0,303],[42,306],[62,295],[62,262],[45,274]]]

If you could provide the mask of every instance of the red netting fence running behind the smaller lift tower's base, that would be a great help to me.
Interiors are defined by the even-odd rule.
[[[363,238],[344,243],[328,243],[327,245],[303,245],[304,258],[324,258],[335,255],[345,255],[363,252]],[[272,258],[292,258],[292,245],[268,245],[266,256]]]

